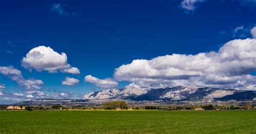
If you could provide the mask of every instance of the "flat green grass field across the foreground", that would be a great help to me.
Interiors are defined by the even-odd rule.
[[[256,111],[0,111],[0,133],[256,133]]]

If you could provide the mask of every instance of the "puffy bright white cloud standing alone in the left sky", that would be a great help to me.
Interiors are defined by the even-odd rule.
[[[68,58],[64,52],[59,54],[51,47],[38,46],[30,50],[22,59],[22,66],[26,69],[35,69],[38,72],[46,70],[49,73],[58,71],[63,73],[80,74],[76,67],[68,64]]]

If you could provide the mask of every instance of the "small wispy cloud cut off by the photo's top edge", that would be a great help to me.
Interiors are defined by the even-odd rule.
[[[180,3],[180,7],[185,10],[185,12],[193,12],[196,9],[196,4],[204,2],[205,0],[183,0]]]

